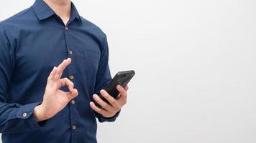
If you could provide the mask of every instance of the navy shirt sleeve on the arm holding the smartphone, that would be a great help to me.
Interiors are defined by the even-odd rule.
[[[95,91],[96,94],[99,94],[100,90],[106,87],[111,81],[111,74],[109,70],[109,46],[106,39],[106,35],[104,38],[104,44],[101,49],[101,59],[99,61],[99,68],[96,76],[96,87]],[[99,122],[114,122],[116,117],[119,116],[119,112],[114,115],[114,117],[106,118],[103,117],[101,114],[95,112],[96,117],[99,119]]]

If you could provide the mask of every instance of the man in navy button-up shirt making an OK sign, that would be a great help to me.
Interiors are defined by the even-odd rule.
[[[127,102],[127,87],[119,99],[101,90],[108,60],[106,35],[70,0],[36,0],[1,21],[2,142],[97,142],[96,118],[113,122]]]

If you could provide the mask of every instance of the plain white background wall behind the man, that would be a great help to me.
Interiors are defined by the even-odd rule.
[[[33,2],[1,1],[0,19]],[[73,2],[108,35],[112,75],[137,72],[100,143],[256,142],[256,1]]]

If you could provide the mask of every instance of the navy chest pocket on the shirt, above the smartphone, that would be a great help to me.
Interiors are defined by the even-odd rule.
[[[87,86],[94,86],[101,55],[100,51],[96,49],[81,49],[77,50],[75,54],[78,78],[81,77],[84,80],[82,82],[86,82]]]

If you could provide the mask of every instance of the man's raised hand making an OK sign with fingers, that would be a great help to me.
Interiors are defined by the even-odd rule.
[[[42,104],[35,107],[34,114],[37,122],[50,119],[58,114],[71,99],[78,96],[78,90],[68,78],[60,79],[65,67],[71,59],[65,59],[58,67],[54,67],[47,79],[45,94]],[[60,87],[68,86],[69,92],[63,92]]]

